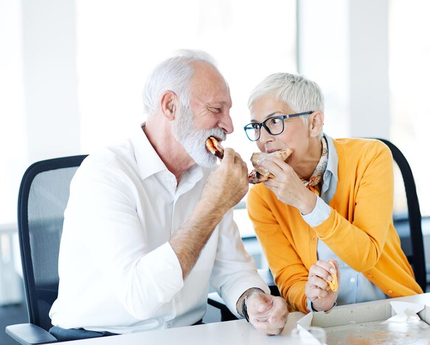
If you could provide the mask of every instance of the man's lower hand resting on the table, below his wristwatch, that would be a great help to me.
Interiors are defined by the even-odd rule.
[[[247,298],[249,322],[264,335],[277,335],[284,329],[288,318],[286,302],[282,297],[251,294]]]

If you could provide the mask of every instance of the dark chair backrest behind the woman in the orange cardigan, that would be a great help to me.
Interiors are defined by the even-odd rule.
[[[407,210],[400,214],[394,213],[394,226],[400,237],[403,252],[405,252],[414,270],[416,281],[422,288],[422,291],[425,292],[427,287],[427,272],[425,267],[424,241],[422,238],[420,204],[416,193],[414,175],[412,174],[407,159],[396,145],[386,139],[376,139],[382,141],[389,147],[394,162],[398,166],[401,176],[403,177]]]

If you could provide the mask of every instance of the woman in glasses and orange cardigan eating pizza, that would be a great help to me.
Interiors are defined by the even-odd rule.
[[[247,202],[288,306],[328,311],[422,293],[393,225],[388,147],[324,134],[323,94],[302,75],[269,75],[248,105],[245,132],[261,152],[293,149],[285,161],[268,155],[259,162],[272,178],[253,186]],[[334,278],[341,278],[337,291],[328,285]]]

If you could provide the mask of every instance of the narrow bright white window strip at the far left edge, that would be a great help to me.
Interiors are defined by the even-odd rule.
[[[21,2],[0,0],[0,223],[15,221],[26,167]]]

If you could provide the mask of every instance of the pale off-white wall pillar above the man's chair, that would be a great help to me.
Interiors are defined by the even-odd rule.
[[[80,150],[73,0],[22,0],[27,161]]]

